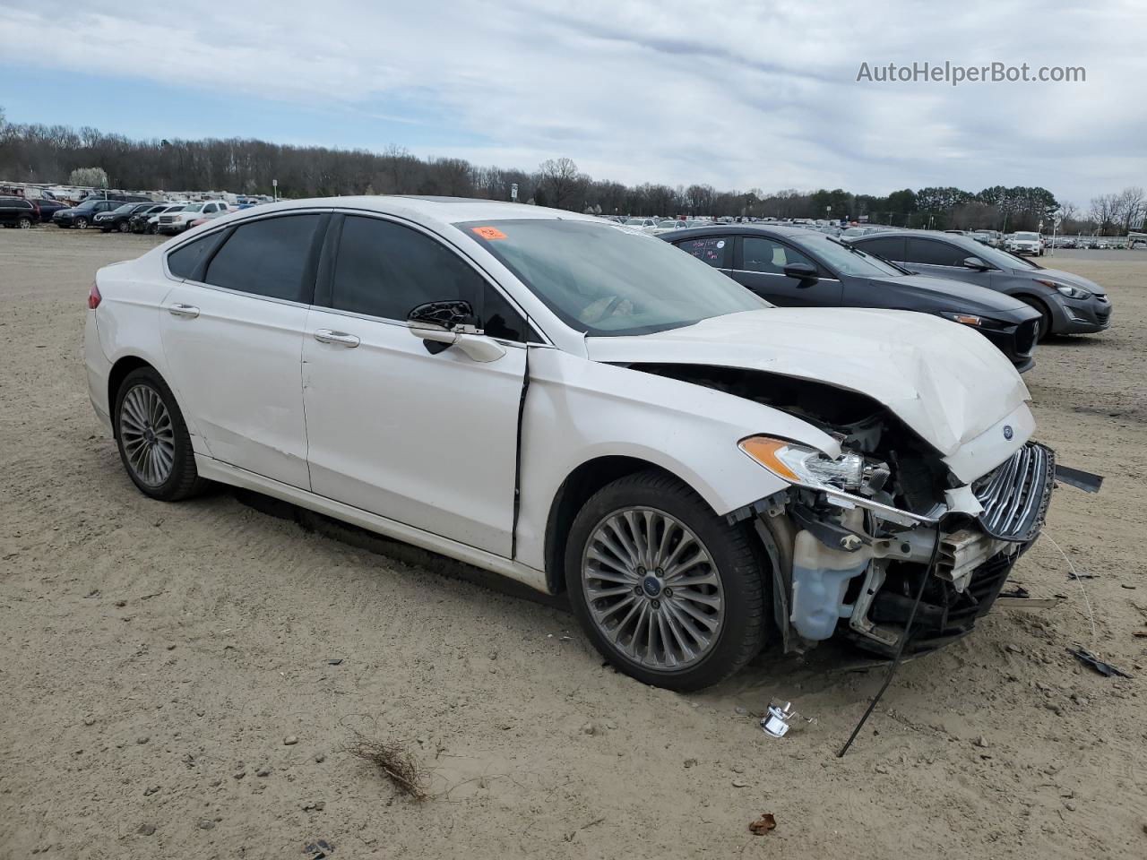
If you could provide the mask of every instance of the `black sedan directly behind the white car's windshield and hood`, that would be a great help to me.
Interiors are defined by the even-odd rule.
[[[834,236],[801,228],[718,225],[661,239],[774,305],[919,311],[970,326],[1020,373],[1032,363],[1039,314],[993,290],[923,275]]]

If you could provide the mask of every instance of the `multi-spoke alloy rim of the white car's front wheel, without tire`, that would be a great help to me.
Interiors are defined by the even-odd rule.
[[[602,518],[582,555],[590,618],[629,660],[680,671],[713,648],[725,618],[720,576],[697,535],[665,511]]]

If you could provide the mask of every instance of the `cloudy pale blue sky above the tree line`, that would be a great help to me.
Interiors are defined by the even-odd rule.
[[[1085,204],[1147,185],[1142,0],[6,0],[0,33],[25,48],[0,62],[10,122],[569,156],[723,189],[1043,185]],[[1086,81],[857,81],[945,61]]]

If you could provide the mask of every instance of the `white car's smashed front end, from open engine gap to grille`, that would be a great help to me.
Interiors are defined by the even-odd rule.
[[[1016,439],[1004,462],[965,482],[895,413],[856,392],[759,373],[642,369],[749,396],[840,443],[838,458],[763,436],[741,445],[790,483],[728,515],[751,523],[770,557],[786,651],[841,635],[891,656],[910,617],[906,654],[963,636],[1043,527],[1055,458],[1037,443]]]

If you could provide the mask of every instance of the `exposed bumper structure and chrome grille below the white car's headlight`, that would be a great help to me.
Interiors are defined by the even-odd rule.
[[[906,652],[969,633],[1043,526],[1054,478],[1051,449],[1028,443],[982,482],[982,510],[922,516],[871,495],[793,487],[731,518],[752,517],[772,562],[786,651],[840,632],[891,656],[915,610]]]

